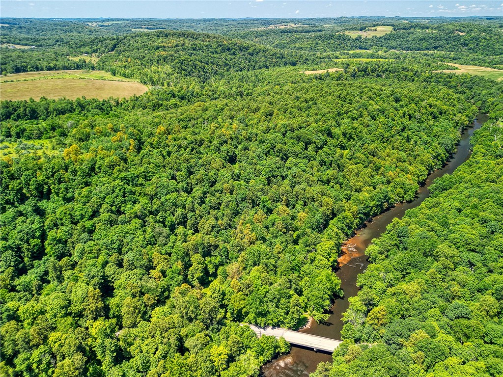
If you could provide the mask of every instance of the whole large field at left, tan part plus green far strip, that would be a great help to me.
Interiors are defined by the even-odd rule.
[[[131,97],[141,95],[148,87],[124,77],[103,71],[46,71],[11,74],[0,80],[0,99],[39,100],[41,97],[76,99]]]

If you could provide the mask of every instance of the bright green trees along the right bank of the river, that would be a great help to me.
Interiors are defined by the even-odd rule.
[[[470,159],[432,184],[431,199],[369,246],[344,343],[313,376],[503,374],[501,118],[473,143]]]

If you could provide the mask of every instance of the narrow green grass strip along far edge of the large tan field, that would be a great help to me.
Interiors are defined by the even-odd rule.
[[[27,80],[45,80],[54,78],[87,78],[92,80],[112,80],[138,82],[134,78],[114,76],[105,71],[83,71],[83,70],[65,70],[65,71],[40,71],[13,73],[0,77],[0,82],[7,81],[27,81]]]

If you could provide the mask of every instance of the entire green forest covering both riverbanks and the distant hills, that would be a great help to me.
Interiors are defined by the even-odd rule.
[[[470,160],[369,247],[314,375],[501,375],[503,81],[433,71],[503,64],[502,20],[402,21],[3,19],[2,43],[37,46],[2,47],[4,74],[150,89],[2,101],[0,142],[55,152],[0,160],[2,375],[259,375],[290,345],[240,323],[326,320],[344,241],[413,200],[478,112]],[[404,51],[425,49],[442,58]]]

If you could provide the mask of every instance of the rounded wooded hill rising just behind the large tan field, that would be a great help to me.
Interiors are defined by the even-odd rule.
[[[210,34],[158,31],[120,38],[113,53],[104,55],[97,67],[138,77],[144,83],[165,85],[180,76],[204,82],[228,71],[295,64],[293,58],[264,46]]]

